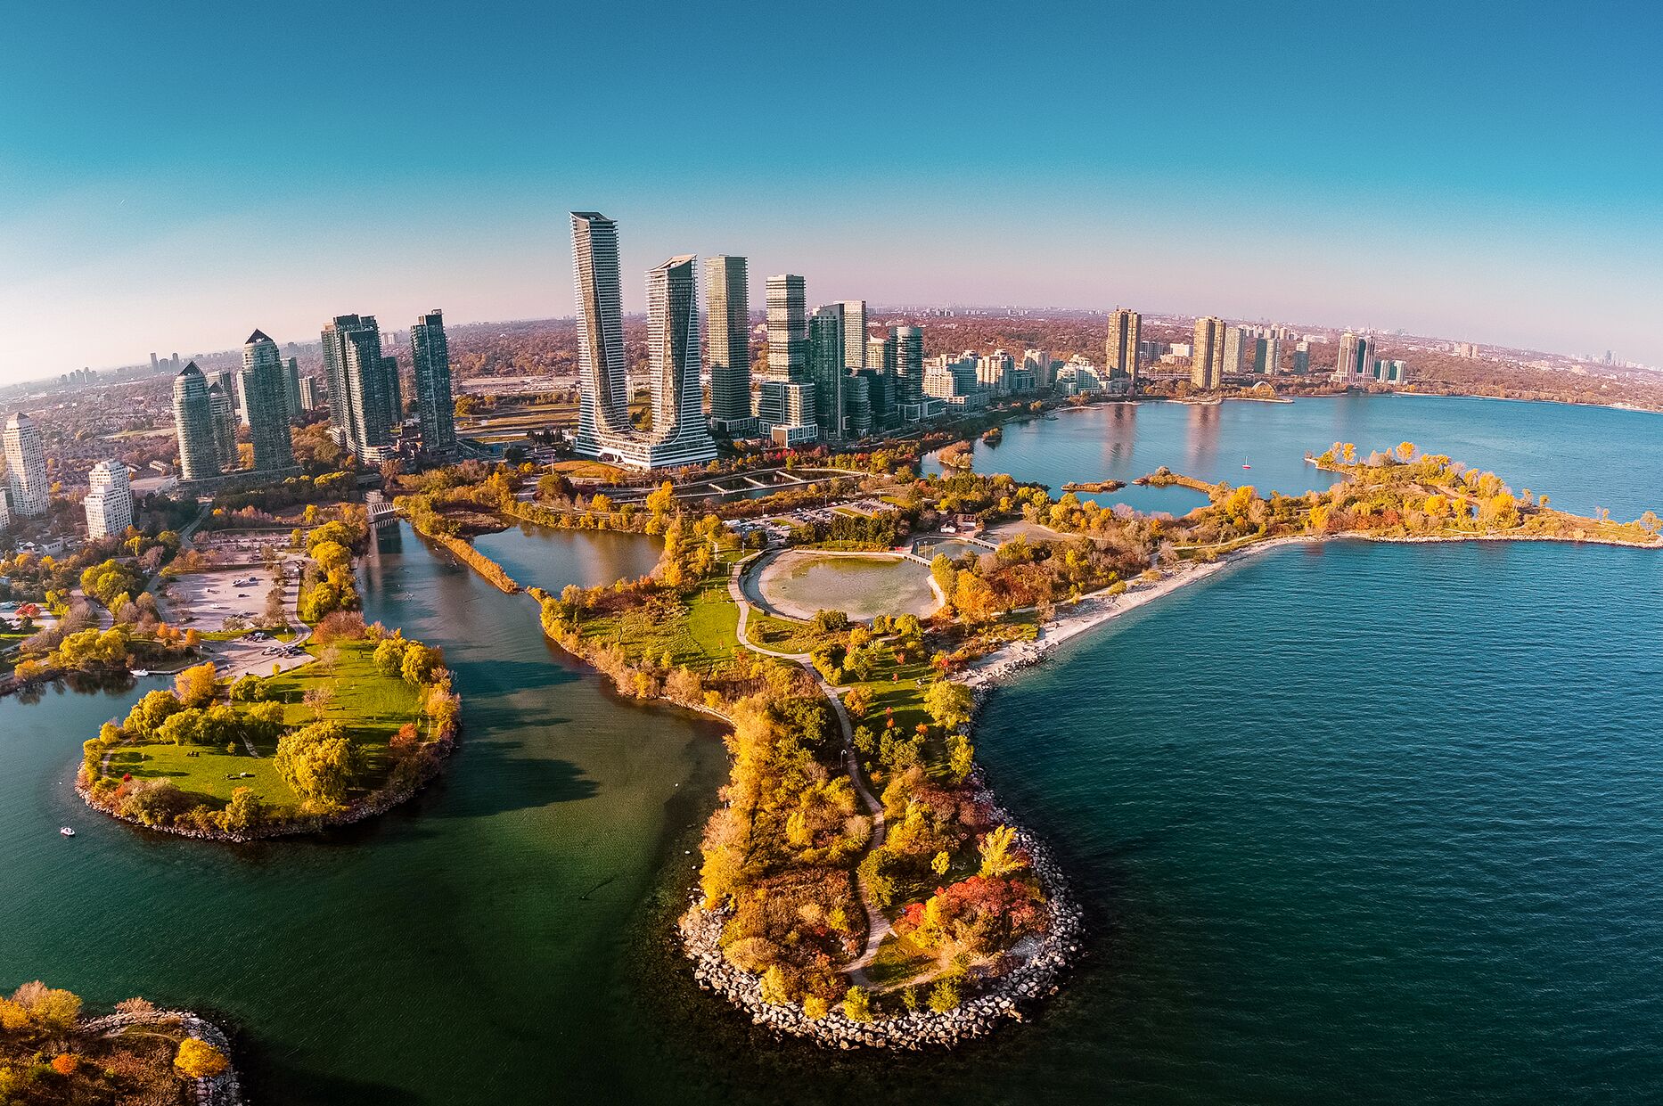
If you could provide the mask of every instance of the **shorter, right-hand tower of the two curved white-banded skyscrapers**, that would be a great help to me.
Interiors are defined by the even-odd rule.
[[[705,426],[698,341],[698,258],[682,254],[647,269],[647,369],[652,434],[637,464],[659,469],[715,461]]]

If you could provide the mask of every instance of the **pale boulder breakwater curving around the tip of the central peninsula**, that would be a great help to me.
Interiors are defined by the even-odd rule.
[[[910,1011],[893,1018],[855,1021],[833,1008],[823,1018],[810,1018],[790,1003],[768,1003],[762,996],[762,980],[728,963],[722,955],[722,926],[727,911],[698,906],[698,891],[682,915],[682,943],[693,961],[693,978],[750,1015],[750,1020],[780,1034],[808,1038],[822,1048],[951,1048],[991,1033],[1006,1018],[1021,1021],[1023,1008],[1048,995],[1056,995],[1063,973],[1084,950],[1084,923],[1078,903],[1069,896],[1063,870],[1038,837],[1021,828],[994,807],[1006,825],[1016,828],[1018,845],[1028,853],[1034,875],[1046,893],[1046,925],[1023,938],[1008,955],[1014,966],[999,975],[966,978],[975,988],[958,1008],[946,1013]]]

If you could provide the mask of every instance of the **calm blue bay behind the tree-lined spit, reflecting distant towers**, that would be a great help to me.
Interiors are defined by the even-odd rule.
[[[1613,517],[1663,512],[1663,416],[1567,404],[1522,404],[1442,396],[1344,396],[1295,402],[1099,404],[1004,427],[998,446],[976,442],[975,467],[1049,484],[1118,479],[1119,492],[1083,494],[1103,504],[1182,514],[1204,502],[1182,487],[1136,487],[1162,464],[1204,481],[1300,494],[1332,477],[1305,464],[1307,451],[1337,441],[1367,456],[1412,441],[1429,452],[1490,469],[1515,491],[1547,492],[1567,511],[1606,507]],[[1242,469],[1242,464],[1251,469]],[[930,466],[938,471],[936,466]]]

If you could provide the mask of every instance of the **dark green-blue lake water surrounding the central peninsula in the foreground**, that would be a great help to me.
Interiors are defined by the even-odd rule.
[[[1603,456],[1606,412],[1563,411]],[[1638,514],[1655,446],[1583,486]],[[136,692],[0,700],[0,986],[215,1013],[281,1106],[1663,1099],[1655,552],[1284,549],[1071,642],[976,743],[1089,956],[1028,1025],[853,1058],[740,1023],[670,946],[715,727],[615,700],[404,527],[363,577],[457,670],[451,772],[354,830],[223,848],[75,800],[80,742]]]

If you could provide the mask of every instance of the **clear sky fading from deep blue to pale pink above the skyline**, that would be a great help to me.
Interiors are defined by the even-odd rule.
[[[0,381],[625,306],[1139,306],[1663,364],[1663,5],[27,3]]]

